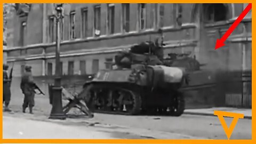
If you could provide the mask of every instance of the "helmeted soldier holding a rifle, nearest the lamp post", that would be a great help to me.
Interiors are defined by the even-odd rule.
[[[26,108],[29,107],[29,113],[33,114],[33,107],[35,106],[35,83],[31,73],[31,66],[25,66],[25,73],[21,77],[20,88],[25,96],[22,111],[26,113]]]

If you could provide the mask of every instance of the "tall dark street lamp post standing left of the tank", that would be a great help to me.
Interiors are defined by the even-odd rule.
[[[56,50],[55,50],[55,78],[54,86],[52,86],[52,110],[49,118],[51,119],[66,119],[66,115],[62,109],[62,88],[61,88],[61,74],[60,74],[60,21],[62,15],[62,5],[55,4],[56,10]]]

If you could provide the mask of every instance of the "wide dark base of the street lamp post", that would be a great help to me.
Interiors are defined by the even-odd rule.
[[[53,86],[52,87],[52,110],[50,119],[66,119],[66,115],[62,108],[62,88]]]

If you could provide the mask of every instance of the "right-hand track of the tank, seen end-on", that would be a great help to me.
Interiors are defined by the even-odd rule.
[[[174,104],[170,108],[169,114],[172,116],[181,116],[185,110],[185,100],[181,92],[178,92],[174,98]]]

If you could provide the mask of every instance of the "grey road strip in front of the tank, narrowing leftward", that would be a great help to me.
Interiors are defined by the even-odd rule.
[[[229,126],[232,118],[225,118]],[[151,131],[186,134],[205,139],[227,139],[226,134],[215,116],[182,115],[181,117],[158,116],[120,116],[95,114],[90,121],[123,125]],[[251,139],[251,119],[239,119],[230,139]]]

